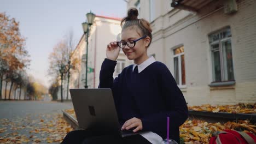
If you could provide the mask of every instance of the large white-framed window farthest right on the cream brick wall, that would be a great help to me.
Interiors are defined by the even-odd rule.
[[[234,81],[230,28],[209,35],[213,82]]]

